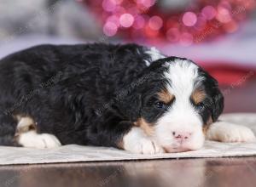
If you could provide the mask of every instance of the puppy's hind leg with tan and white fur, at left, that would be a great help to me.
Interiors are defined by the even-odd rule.
[[[37,133],[32,118],[28,116],[20,117],[16,130],[16,140],[23,147],[44,149],[61,146],[60,141],[54,135]]]

